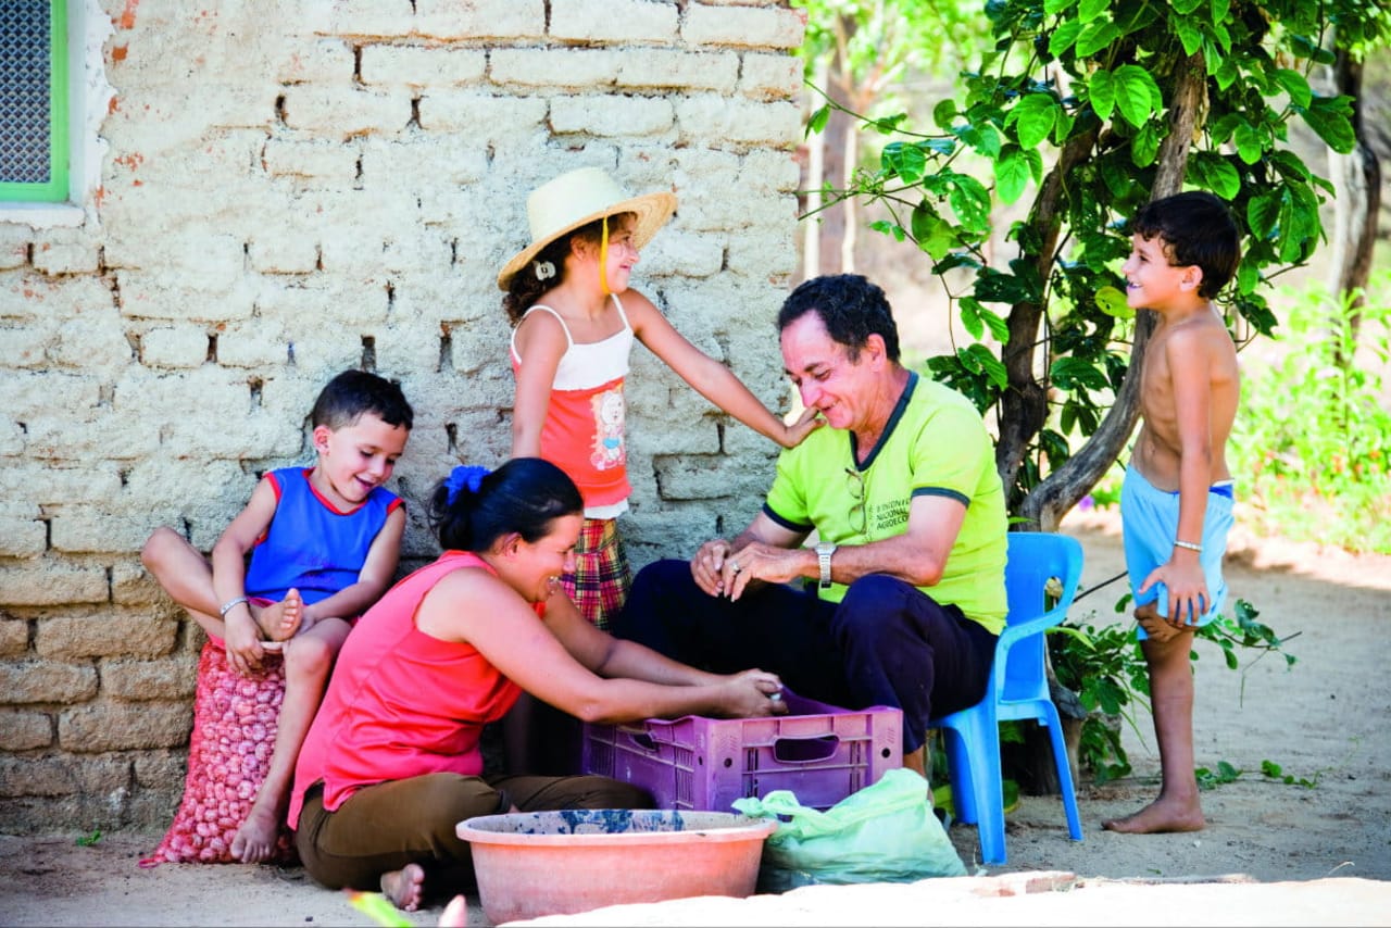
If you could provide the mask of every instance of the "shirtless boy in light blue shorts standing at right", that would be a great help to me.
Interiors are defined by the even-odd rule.
[[[1145,351],[1145,422],[1121,487],[1121,525],[1161,783],[1153,803],[1103,826],[1188,832],[1205,825],[1188,655],[1195,629],[1217,616],[1227,595],[1221,559],[1232,480],[1225,447],[1239,397],[1237,349],[1212,299],[1235,274],[1241,250],[1227,206],[1212,193],[1155,200],[1135,216],[1132,231],[1121,269],[1125,299],[1159,313],[1159,324]]]

